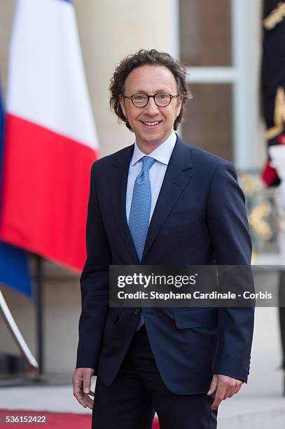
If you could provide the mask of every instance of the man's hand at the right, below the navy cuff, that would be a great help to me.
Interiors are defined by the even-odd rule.
[[[242,381],[233,379],[232,377],[214,374],[211,380],[211,386],[207,395],[213,395],[216,392],[215,400],[211,404],[211,409],[217,409],[222,400],[227,397],[232,397],[242,387]]]

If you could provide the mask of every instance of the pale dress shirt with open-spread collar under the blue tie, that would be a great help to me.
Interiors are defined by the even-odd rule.
[[[167,165],[169,163],[170,156],[174,149],[176,143],[176,134],[172,131],[172,134],[169,135],[168,139],[165,140],[159,147],[157,147],[151,154],[155,159],[155,163],[151,166],[149,170],[149,179],[151,180],[151,215],[149,217],[149,222],[151,222],[151,217],[155,209],[155,204],[158,200],[158,195],[162,186],[163,179],[165,178],[165,172],[167,170]],[[130,162],[129,174],[127,176],[127,193],[126,193],[126,205],[125,212],[127,215],[127,223],[129,223],[130,210],[132,204],[132,192],[134,190],[134,182],[137,179],[137,176],[141,172],[142,161],[141,158],[146,156],[137,146],[137,142],[134,142],[134,154]]]

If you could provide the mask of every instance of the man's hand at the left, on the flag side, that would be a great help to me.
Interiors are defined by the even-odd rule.
[[[94,374],[92,368],[77,368],[74,371],[72,382],[74,385],[74,396],[84,408],[93,409],[94,401],[88,395],[94,396],[94,392],[90,390],[91,377]]]

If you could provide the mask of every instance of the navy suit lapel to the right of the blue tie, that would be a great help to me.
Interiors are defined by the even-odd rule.
[[[181,196],[183,189],[193,176],[191,168],[190,149],[177,136],[176,144],[165,173],[165,178],[162,182],[158,201],[151,218],[151,224],[148,228],[142,263],[144,263],[148,250],[150,250],[155,237],[158,235],[158,232],[165,223],[169,213],[172,211],[176,201]]]

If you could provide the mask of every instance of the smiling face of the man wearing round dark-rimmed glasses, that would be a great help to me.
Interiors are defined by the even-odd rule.
[[[124,95],[130,97],[137,93],[176,95],[174,75],[164,66],[137,67],[127,76]],[[173,98],[168,106],[158,107],[153,98],[150,98],[146,107],[135,107],[132,100],[121,98],[123,114],[136,135],[139,149],[149,154],[165,142],[172,133],[174,121],[180,113],[181,102],[182,98],[177,97]]]

